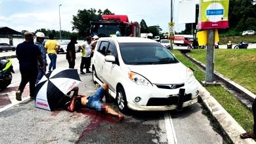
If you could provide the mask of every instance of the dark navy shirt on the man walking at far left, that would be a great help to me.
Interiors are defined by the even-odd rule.
[[[37,56],[40,55],[39,47],[34,45],[33,42],[24,41],[16,47],[16,56],[20,63],[20,70],[37,71]]]

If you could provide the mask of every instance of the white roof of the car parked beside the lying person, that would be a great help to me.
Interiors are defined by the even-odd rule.
[[[152,39],[146,39],[143,37],[101,37],[100,41],[117,41],[117,43],[158,43]]]

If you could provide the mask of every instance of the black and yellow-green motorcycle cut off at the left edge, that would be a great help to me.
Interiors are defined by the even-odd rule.
[[[12,81],[12,60],[0,60],[0,89],[3,90],[11,84]]]

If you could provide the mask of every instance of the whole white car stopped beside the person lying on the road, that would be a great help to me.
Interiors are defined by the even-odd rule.
[[[123,112],[167,111],[177,109],[178,99],[181,107],[198,101],[192,69],[152,39],[100,38],[92,63],[93,82],[107,83]]]

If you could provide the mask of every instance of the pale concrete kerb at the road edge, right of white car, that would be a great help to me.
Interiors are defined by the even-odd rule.
[[[245,130],[229,115],[229,113],[219,104],[219,102],[211,96],[211,94],[198,82],[200,97],[203,103],[209,109],[213,117],[221,125],[224,132],[233,143],[255,143],[253,139],[241,139],[240,134],[245,133]]]

